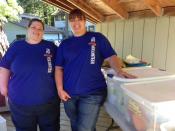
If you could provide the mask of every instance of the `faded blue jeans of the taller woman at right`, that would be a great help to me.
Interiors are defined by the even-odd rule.
[[[95,131],[100,107],[105,98],[106,94],[75,96],[64,102],[72,131]]]

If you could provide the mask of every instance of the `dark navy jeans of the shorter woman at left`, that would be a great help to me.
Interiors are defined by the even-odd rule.
[[[60,102],[52,100],[37,106],[20,106],[9,100],[12,121],[16,131],[59,131]]]

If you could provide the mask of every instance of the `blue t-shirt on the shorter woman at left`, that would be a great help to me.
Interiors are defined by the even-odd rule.
[[[18,105],[39,105],[57,98],[54,81],[56,50],[52,42],[45,40],[36,45],[25,40],[11,45],[0,61],[0,67],[11,71],[10,101]]]

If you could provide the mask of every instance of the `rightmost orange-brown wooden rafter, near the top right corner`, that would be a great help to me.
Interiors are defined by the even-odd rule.
[[[156,14],[156,16],[163,15],[163,8],[160,6],[158,0],[144,0],[145,4]]]

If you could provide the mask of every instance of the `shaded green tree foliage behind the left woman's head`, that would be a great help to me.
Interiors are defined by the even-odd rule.
[[[46,24],[52,25],[52,14],[57,10],[56,7],[41,0],[18,0],[18,3],[24,8],[25,13],[39,16]]]

